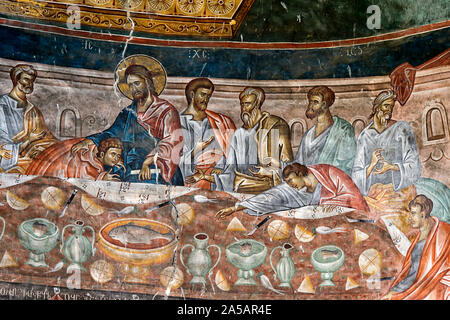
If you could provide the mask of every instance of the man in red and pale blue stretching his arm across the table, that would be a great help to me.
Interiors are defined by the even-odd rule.
[[[328,164],[306,167],[291,163],[283,169],[283,182],[245,201],[217,212],[224,219],[238,210],[250,215],[296,209],[310,205],[341,206],[369,211],[366,201],[352,179],[341,169]]]

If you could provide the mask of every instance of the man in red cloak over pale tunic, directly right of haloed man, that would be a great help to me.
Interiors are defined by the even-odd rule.
[[[213,92],[214,84],[207,78],[196,78],[186,85],[188,106],[180,114],[184,137],[180,168],[185,179],[198,172],[220,173],[214,167],[225,160],[236,130],[231,118],[207,109]],[[193,186],[210,189],[211,183],[199,180]]]

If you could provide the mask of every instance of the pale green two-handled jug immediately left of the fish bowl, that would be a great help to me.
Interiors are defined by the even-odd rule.
[[[71,227],[73,234],[64,240],[64,232]],[[83,233],[85,230],[90,230],[92,233],[91,241],[86,238]],[[84,222],[77,220],[75,224],[65,226],[61,233],[61,249],[60,251],[71,262],[68,268],[76,268],[86,271],[83,263],[95,254],[95,231],[92,227],[85,226]]]

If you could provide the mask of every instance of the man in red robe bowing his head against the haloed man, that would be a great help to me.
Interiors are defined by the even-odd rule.
[[[109,181],[124,179],[120,139],[106,138],[100,141],[98,148],[93,144],[87,151],[72,153],[72,146],[82,140],[84,138],[65,140],[47,148],[33,160],[26,174]]]

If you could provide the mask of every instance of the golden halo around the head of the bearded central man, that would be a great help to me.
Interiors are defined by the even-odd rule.
[[[156,95],[159,96],[166,87],[166,69],[164,69],[161,62],[159,62],[155,58],[146,56],[145,54],[135,54],[126,57],[119,62],[116,70],[114,71],[114,80],[119,91],[122,92],[122,94],[127,98],[133,100],[130,88],[128,87],[127,81],[125,79],[125,70],[127,70],[129,66],[134,64],[144,66],[148,71],[150,71],[153,77],[153,85],[155,86]]]

